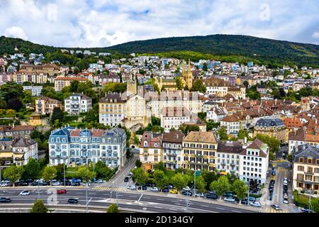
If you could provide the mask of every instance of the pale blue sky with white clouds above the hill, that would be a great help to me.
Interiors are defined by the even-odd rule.
[[[0,35],[65,48],[212,34],[319,44],[319,0],[0,0]]]

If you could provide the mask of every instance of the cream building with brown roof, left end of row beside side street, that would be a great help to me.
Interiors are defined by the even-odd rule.
[[[162,135],[144,132],[140,143],[140,161],[145,170],[154,169],[162,161]]]

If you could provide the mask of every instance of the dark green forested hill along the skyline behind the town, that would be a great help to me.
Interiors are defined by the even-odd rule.
[[[15,46],[25,52],[55,52],[57,48],[14,38],[0,38],[0,54],[12,53]],[[69,48],[66,48],[69,49]],[[319,45],[256,38],[247,35],[206,35],[140,40],[108,48],[85,48],[94,52],[131,52],[159,54],[167,57],[202,57],[215,60],[247,62],[252,60],[269,66],[298,65],[319,67]],[[74,48],[74,50],[84,50]]]

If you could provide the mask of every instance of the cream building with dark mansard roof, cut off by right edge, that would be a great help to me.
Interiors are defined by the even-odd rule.
[[[319,148],[299,145],[293,154],[294,190],[319,190]]]

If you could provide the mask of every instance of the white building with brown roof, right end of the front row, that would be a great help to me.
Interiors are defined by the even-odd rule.
[[[266,183],[269,166],[269,147],[262,140],[256,139],[243,146],[240,153],[240,179],[248,182],[257,180]]]

